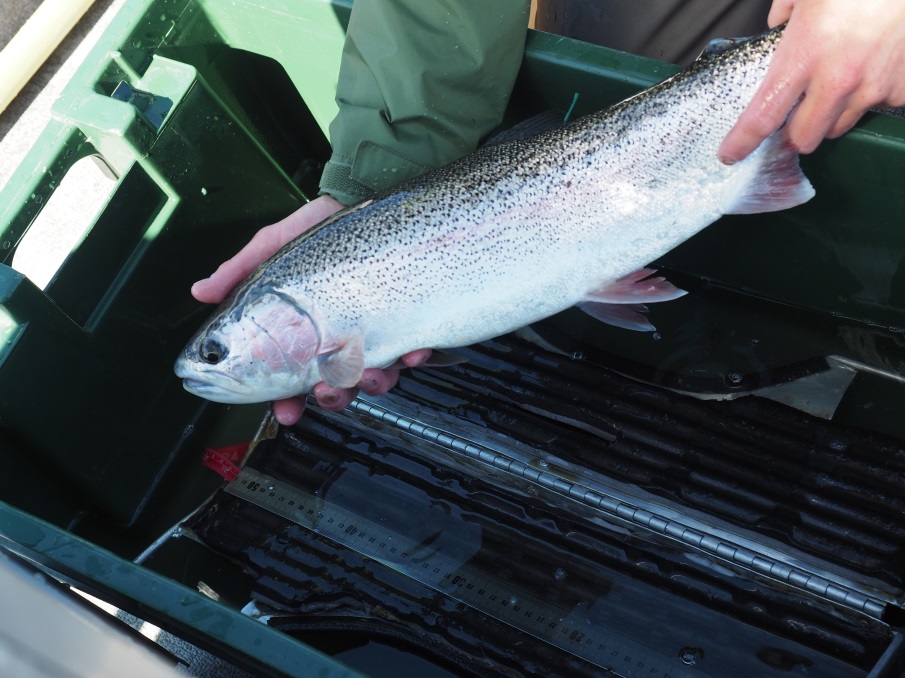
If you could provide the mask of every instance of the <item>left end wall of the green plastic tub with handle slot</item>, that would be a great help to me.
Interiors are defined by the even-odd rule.
[[[207,407],[172,373],[209,312],[191,283],[301,205],[328,152],[285,69],[212,44],[220,34],[207,17],[203,3],[128,3],[0,195],[0,292],[18,328],[0,357],[10,441],[0,449],[40,457],[122,524],[139,517]],[[9,264],[87,156],[116,188],[42,292]]]

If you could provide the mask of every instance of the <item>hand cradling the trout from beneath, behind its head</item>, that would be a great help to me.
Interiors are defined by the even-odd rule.
[[[265,226],[255,233],[238,254],[221,264],[209,278],[199,280],[192,285],[192,296],[203,303],[220,303],[233,287],[251,275],[280,247],[342,208],[343,205],[338,200],[329,195],[323,195],[303,205],[282,221]],[[430,355],[429,349],[413,351],[402,356],[402,362],[407,367],[416,367],[427,361]],[[398,379],[399,370],[397,369],[369,368],[362,374],[358,388],[334,388],[320,382],[314,386],[314,397],[324,409],[337,411],[352,402],[359,388],[368,395],[379,395],[393,388]],[[303,395],[278,400],[273,404],[274,417],[278,422],[287,426],[296,423],[304,411],[305,398]]]

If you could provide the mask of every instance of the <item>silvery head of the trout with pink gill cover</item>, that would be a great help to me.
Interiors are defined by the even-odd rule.
[[[307,393],[318,380],[320,338],[311,317],[278,291],[233,298],[176,361],[189,393],[219,403],[260,403]]]

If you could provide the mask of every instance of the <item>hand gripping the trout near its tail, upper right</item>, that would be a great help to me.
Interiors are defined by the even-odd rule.
[[[811,153],[869,108],[905,105],[902,0],[774,0],[767,21],[788,25],[764,82],[720,145],[722,162],[745,158],[793,108],[789,140]]]

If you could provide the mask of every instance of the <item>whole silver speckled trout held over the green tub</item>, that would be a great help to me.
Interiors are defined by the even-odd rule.
[[[725,166],[717,147],[781,29],[558,129],[479,149],[325,220],[237,286],[176,362],[224,403],[354,386],[417,348],[453,348],[570,306],[652,330],[681,290],[644,267],[724,214],[814,194],[782,131]]]

